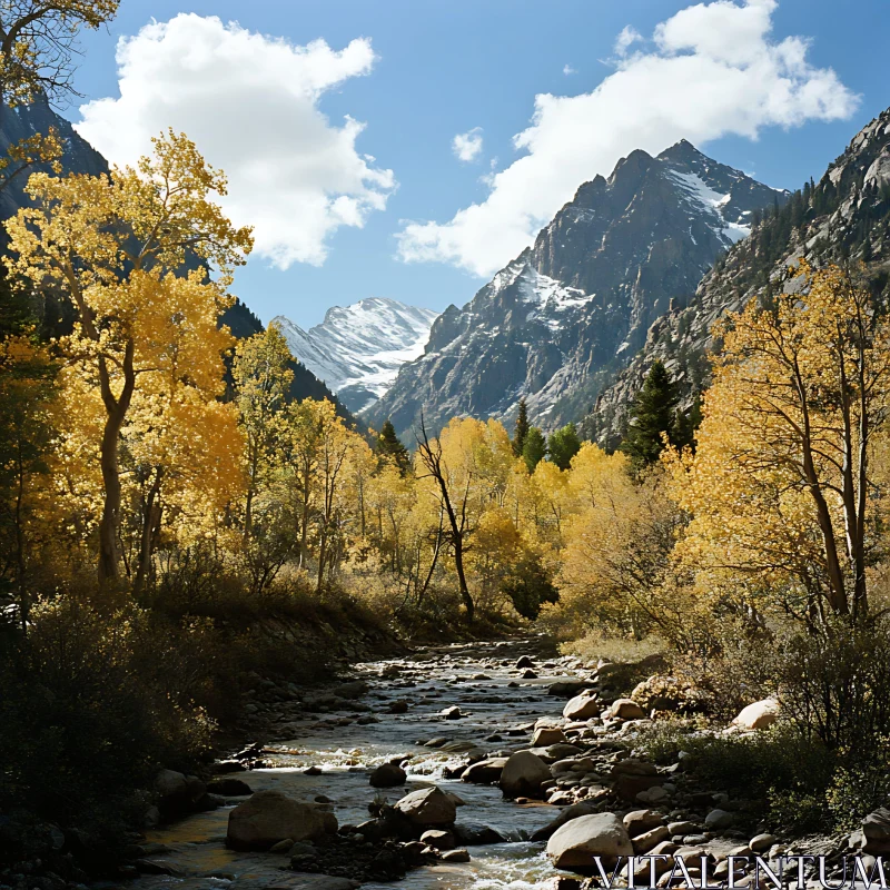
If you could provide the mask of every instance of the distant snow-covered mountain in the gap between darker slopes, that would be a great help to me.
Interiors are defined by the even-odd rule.
[[[354,412],[373,405],[398,369],[423,354],[438,313],[370,297],[335,306],[320,325],[304,330],[284,316],[274,319],[290,352]]]

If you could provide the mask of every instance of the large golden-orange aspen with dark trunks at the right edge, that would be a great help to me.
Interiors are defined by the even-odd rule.
[[[805,264],[718,333],[694,458],[674,463],[692,563],[783,591],[810,623],[862,616],[886,493],[872,453],[890,406],[890,325],[871,290]]]

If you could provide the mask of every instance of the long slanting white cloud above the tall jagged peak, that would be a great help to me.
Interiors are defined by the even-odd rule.
[[[444,224],[409,222],[398,235],[406,261],[444,261],[487,276],[596,174],[635,148],[656,154],[681,138],[701,145],[763,127],[852,113],[858,98],[830,68],[807,61],[807,40],[772,39],[775,0],[716,0],[661,23],[646,51],[619,59],[589,93],[535,97],[531,126],[514,137],[524,154],[491,180],[487,198]],[[625,29],[616,51],[634,40]]]

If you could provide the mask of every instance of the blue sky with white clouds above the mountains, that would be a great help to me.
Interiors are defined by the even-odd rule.
[[[116,164],[186,131],[303,327],[464,305],[634,148],[797,188],[890,105],[887,0],[121,0],[81,46],[63,113]]]

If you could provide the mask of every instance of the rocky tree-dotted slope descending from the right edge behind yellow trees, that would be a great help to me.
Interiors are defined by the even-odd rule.
[[[795,191],[779,212],[768,212],[702,278],[689,300],[650,328],[643,349],[600,394],[582,429],[614,444],[627,406],[659,358],[678,380],[683,404],[708,385],[706,353],[713,323],[754,296],[782,288],[789,265],[849,263],[876,291],[890,288],[890,109],[864,127],[819,182]],[[692,293],[692,291],[691,291]]]

